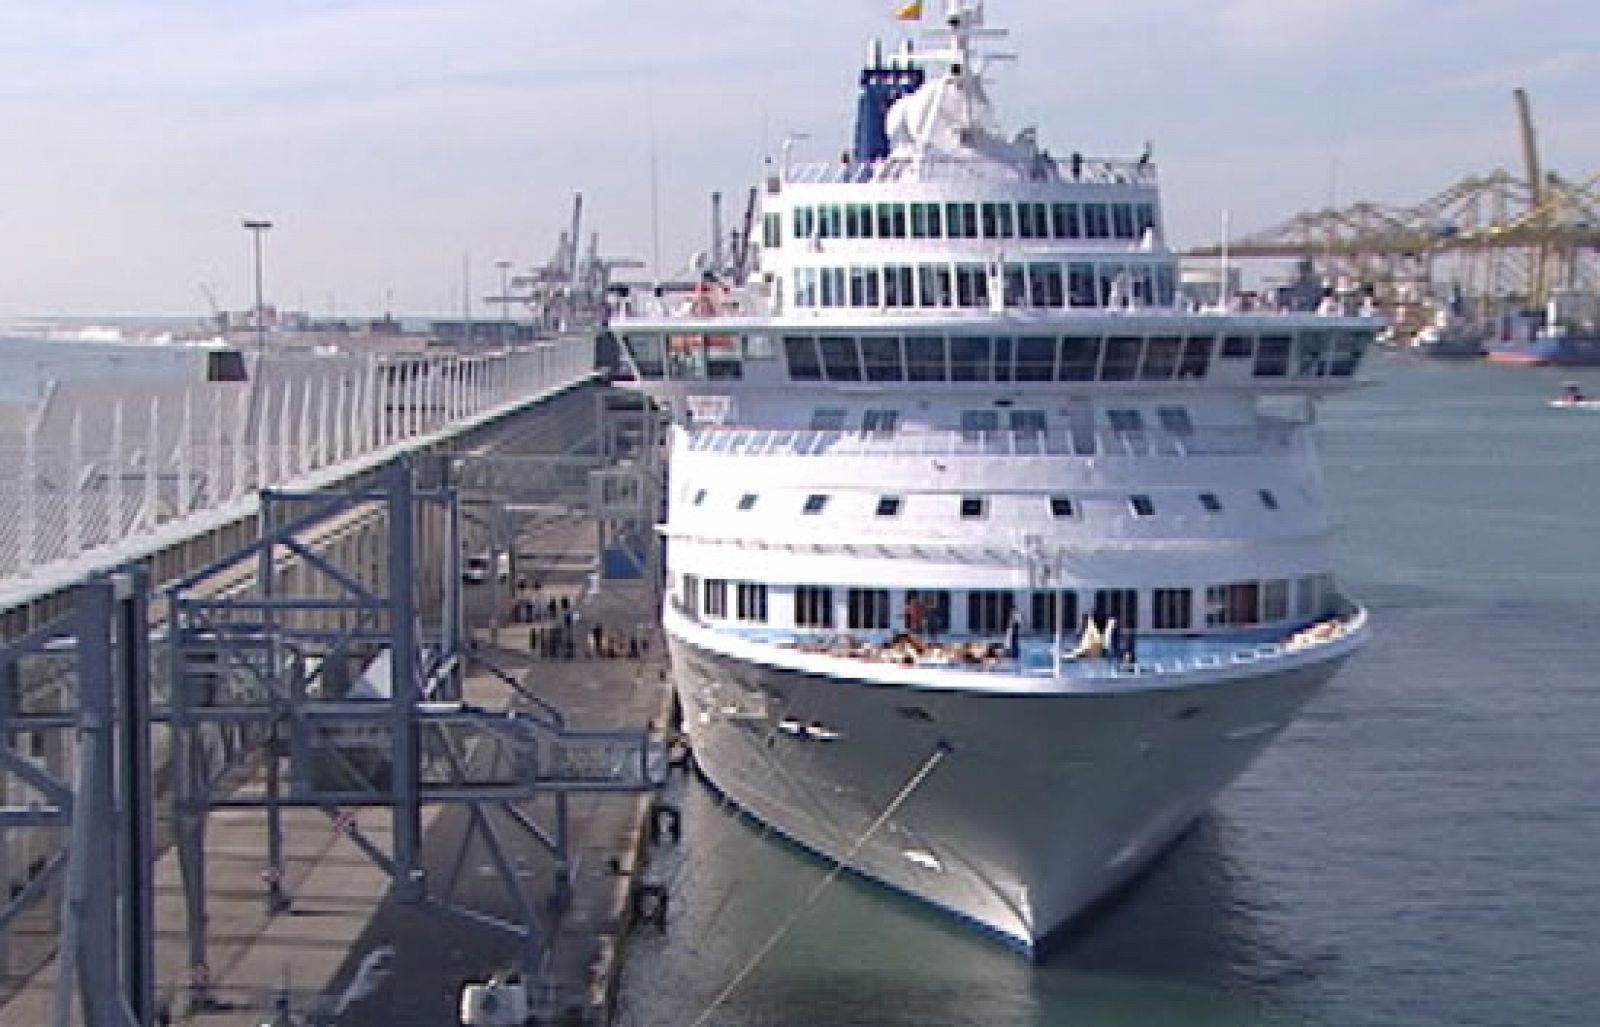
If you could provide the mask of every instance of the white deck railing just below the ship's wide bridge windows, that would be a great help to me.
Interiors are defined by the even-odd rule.
[[[725,456],[1261,456],[1290,445],[1278,426],[1192,432],[896,430],[846,432],[704,426],[686,429],[690,453]]]

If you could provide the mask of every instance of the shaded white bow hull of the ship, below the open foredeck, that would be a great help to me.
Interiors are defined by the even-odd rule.
[[[1174,688],[984,694],[760,665],[670,617],[669,643],[696,761],[731,801],[1027,953],[1160,854],[1349,653]]]

